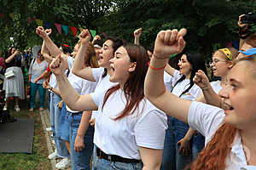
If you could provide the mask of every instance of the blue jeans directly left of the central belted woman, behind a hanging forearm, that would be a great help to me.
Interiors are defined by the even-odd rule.
[[[93,135],[94,127],[89,125],[86,133],[84,134],[84,149],[76,152],[74,150],[75,139],[79,130],[80,121],[83,112],[73,116],[68,116],[68,122],[70,127],[70,150],[71,150],[71,162],[73,170],[90,169],[90,157],[93,150]],[[67,111],[67,114],[72,113]]]

